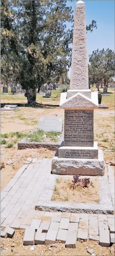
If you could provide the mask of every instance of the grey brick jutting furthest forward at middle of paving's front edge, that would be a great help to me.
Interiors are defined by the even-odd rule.
[[[66,248],[76,248],[77,231],[67,231]]]

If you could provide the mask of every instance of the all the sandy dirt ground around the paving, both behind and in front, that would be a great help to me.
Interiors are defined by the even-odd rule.
[[[97,88],[92,88],[94,91]],[[101,90],[101,89],[100,89]],[[115,148],[115,125],[114,125],[114,90],[108,90],[110,96],[102,96],[102,103],[106,104],[109,109],[94,110],[94,140],[98,143],[98,148],[103,149],[105,161],[115,163],[115,154],[105,152],[104,150],[113,150]],[[25,132],[37,129],[38,119],[40,116],[57,116],[64,119],[64,110],[59,108],[59,92],[52,91],[50,99],[44,99],[37,95],[37,104],[35,108],[27,107],[27,99],[25,96],[19,95],[1,95],[1,107],[5,104],[18,104],[19,109],[8,112],[1,112],[1,133],[9,132]],[[55,98],[57,97],[57,98]],[[9,139],[11,142],[13,138]],[[20,140],[20,139],[19,139]],[[18,141],[19,141],[18,140]],[[9,180],[14,177],[18,169],[23,165],[28,157],[52,158],[55,151],[48,149],[17,149],[17,142],[14,147],[7,148],[1,145],[1,162],[5,164],[5,168],[1,170],[1,190],[8,184]],[[11,164],[7,164],[8,160],[12,160]],[[23,246],[24,231],[15,231],[12,239],[1,239],[1,255],[75,255],[86,256],[88,248],[93,248],[96,255],[111,256],[114,255],[114,246],[105,248],[97,244],[97,242],[77,242],[76,249],[66,249],[63,244],[58,244],[57,248],[49,250],[48,245],[35,245],[34,250],[30,250],[31,246]],[[3,250],[7,247],[8,250]]]

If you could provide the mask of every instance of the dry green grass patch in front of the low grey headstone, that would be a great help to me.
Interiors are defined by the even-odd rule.
[[[31,142],[41,142],[43,139],[49,138],[51,141],[58,141],[57,136],[60,135],[60,132],[44,132],[43,130],[38,130],[37,132],[33,132],[27,136],[29,141]]]

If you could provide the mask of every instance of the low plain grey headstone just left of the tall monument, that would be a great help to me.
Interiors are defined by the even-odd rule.
[[[38,130],[44,132],[62,132],[63,120],[58,117],[41,117],[38,123]]]

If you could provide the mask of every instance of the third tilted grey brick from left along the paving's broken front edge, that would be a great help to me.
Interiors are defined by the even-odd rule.
[[[55,240],[57,237],[58,230],[48,230],[45,238],[45,244],[55,244]]]

